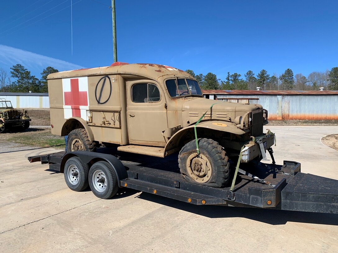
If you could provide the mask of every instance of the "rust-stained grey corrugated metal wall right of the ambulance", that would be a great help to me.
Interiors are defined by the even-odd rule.
[[[219,95],[223,98],[249,98],[249,95]],[[268,110],[269,119],[338,120],[337,95],[253,95],[250,104],[258,103]],[[246,101],[247,102],[247,101]]]

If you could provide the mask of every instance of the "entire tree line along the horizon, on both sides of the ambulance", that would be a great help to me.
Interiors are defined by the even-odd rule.
[[[31,75],[30,71],[16,64],[12,66],[8,74],[0,68],[0,91],[1,92],[48,92],[47,76],[58,72],[57,69],[48,66],[41,72],[41,78]],[[270,76],[265,69],[262,69],[256,76],[249,70],[241,78],[241,74],[227,73],[225,80],[218,79],[211,72],[207,75],[195,73],[191,69],[186,72],[194,77],[205,90],[255,90],[260,87],[262,90],[338,90],[338,67],[333,67],[330,71],[312,72],[307,77],[303,74],[294,75],[290,68],[286,69],[281,75],[273,74]]]

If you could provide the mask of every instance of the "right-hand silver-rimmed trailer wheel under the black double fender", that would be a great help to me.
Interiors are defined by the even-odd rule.
[[[89,170],[89,186],[98,198],[113,197],[119,189],[113,166],[105,161],[94,163]]]

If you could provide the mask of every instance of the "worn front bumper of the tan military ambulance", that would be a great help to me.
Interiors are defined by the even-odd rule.
[[[254,160],[256,157],[262,156],[259,143],[263,143],[264,151],[269,149],[275,143],[275,135],[271,132],[255,138],[255,141],[250,141],[248,144],[244,145],[242,149],[242,163],[248,163]]]

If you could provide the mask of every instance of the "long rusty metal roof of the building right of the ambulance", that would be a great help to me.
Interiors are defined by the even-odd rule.
[[[216,95],[338,95],[338,90],[203,90]]]

